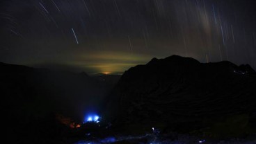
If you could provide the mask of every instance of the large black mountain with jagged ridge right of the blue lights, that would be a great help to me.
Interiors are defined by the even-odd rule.
[[[177,55],[153,58],[125,71],[108,98],[106,116],[117,124],[150,129],[244,134],[253,127],[255,88],[255,71],[248,64],[204,64]]]

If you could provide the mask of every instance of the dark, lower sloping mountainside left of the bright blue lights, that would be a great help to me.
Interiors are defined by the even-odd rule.
[[[11,137],[10,143],[58,138],[65,129],[56,127],[56,114],[81,122],[86,112],[99,111],[117,81],[0,63],[2,130]]]

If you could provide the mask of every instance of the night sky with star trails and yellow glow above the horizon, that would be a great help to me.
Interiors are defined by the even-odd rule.
[[[255,0],[1,0],[0,62],[122,73],[152,57],[256,69]]]

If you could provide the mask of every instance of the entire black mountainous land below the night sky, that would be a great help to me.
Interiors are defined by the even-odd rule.
[[[108,143],[111,136],[115,143],[255,140],[256,76],[249,65],[173,55],[121,78],[3,63],[0,70],[2,130],[10,143]],[[88,109],[101,122],[70,128]]]

